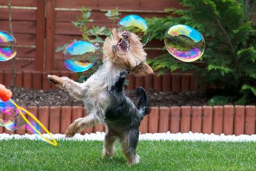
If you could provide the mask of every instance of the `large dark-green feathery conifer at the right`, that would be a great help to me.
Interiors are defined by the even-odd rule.
[[[150,60],[160,74],[165,71],[193,70],[206,87],[214,85],[232,96],[233,101],[256,97],[256,36],[252,11],[255,1],[232,0],[181,0],[183,9],[169,8],[175,17],[147,19],[151,40],[163,40],[166,30],[176,24],[198,29],[206,41],[205,54],[195,63],[182,63],[170,54]],[[161,25],[161,27],[159,27]],[[218,98],[217,98],[218,100]],[[229,99],[230,100],[230,99]]]

